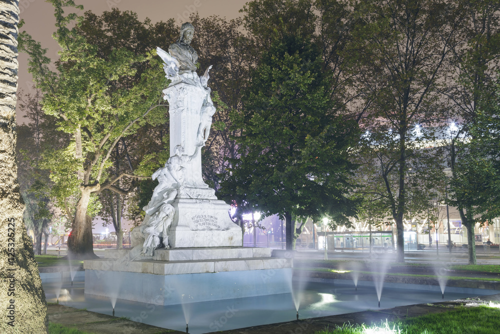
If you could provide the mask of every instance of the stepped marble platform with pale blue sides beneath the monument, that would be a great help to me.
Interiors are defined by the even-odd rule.
[[[173,305],[291,292],[292,259],[271,257],[269,248],[157,249],[153,259],[120,263],[129,251],[85,260],[85,293]]]

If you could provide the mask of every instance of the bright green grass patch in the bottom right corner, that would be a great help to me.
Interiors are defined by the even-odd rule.
[[[431,313],[380,325],[344,325],[315,334],[496,334],[500,328],[500,309],[489,306],[458,307],[444,313]]]

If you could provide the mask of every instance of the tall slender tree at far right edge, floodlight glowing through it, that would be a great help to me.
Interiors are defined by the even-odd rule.
[[[467,167],[476,171],[476,166],[471,161],[476,160],[477,157],[474,155],[477,154],[477,150],[469,150],[467,145],[463,145],[463,141],[475,135],[476,130],[473,129],[486,117],[483,112],[488,109],[485,105],[488,98],[484,93],[494,92],[491,89],[495,85],[500,70],[498,62],[500,2],[457,0],[456,3],[463,11],[459,26],[460,39],[452,49],[453,57],[447,78],[449,84],[444,96],[449,99],[452,106],[447,115],[452,123],[446,124],[445,130],[449,138],[447,163],[451,170],[451,184],[458,186],[460,179],[466,184],[468,181],[473,181],[464,179],[463,171]],[[454,129],[451,129],[450,125]],[[473,155],[468,156],[469,153]],[[485,179],[477,180],[486,181]],[[465,188],[470,186],[472,184],[466,185]],[[456,194],[459,193],[458,190]],[[477,220],[474,217],[474,210],[469,207],[470,197],[455,196],[453,192],[450,195],[453,203],[458,207],[463,226],[467,228],[468,263],[476,264],[474,227]]]

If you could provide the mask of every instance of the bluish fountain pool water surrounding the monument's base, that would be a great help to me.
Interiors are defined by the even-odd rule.
[[[43,283],[47,301],[55,302],[57,282]],[[195,287],[194,287],[195,288]],[[111,314],[110,299],[83,293],[83,282],[75,281],[71,286],[64,282],[67,291],[59,303],[89,311]],[[495,290],[447,287],[445,300],[495,294]],[[381,308],[417,303],[439,302],[439,286],[411,284],[384,284]],[[308,282],[301,294],[300,318],[327,316],[377,309],[378,297],[372,282],[359,281],[357,291],[350,280]],[[190,308],[189,333],[206,333],[218,330],[242,328],[260,324],[292,321],[296,309],[291,293],[259,297],[225,299],[192,303]],[[159,327],[185,331],[185,318],[181,305],[155,305],[118,299],[115,316],[126,316],[133,321]]]

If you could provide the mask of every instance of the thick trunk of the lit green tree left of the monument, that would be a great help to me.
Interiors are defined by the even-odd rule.
[[[90,193],[98,190],[97,186],[80,187],[81,196],[76,203],[76,212],[71,224],[71,233],[67,238],[68,259],[92,259],[98,258],[93,252],[92,242],[92,218],[87,215]]]

